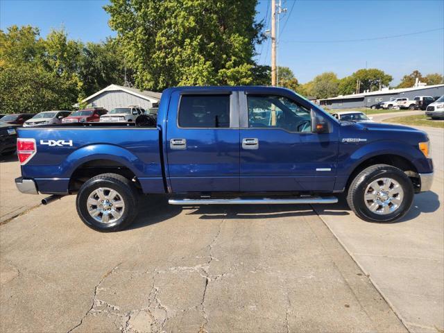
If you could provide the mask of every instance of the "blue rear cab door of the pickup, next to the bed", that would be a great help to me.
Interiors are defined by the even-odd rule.
[[[239,191],[237,92],[173,92],[165,144],[173,192]]]

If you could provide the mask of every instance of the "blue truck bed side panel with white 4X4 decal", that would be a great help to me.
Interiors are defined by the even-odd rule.
[[[21,138],[35,139],[37,153],[22,165],[22,176],[35,179],[42,193],[67,194],[71,176],[92,159],[94,165],[127,168],[144,191],[164,193],[160,130],[156,127],[70,123],[20,128],[18,132]]]

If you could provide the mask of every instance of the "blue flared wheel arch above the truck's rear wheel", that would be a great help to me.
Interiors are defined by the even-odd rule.
[[[144,174],[144,163],[130,151],[113,144],[92,144],[83,146],[68,155],[60,164],[62,177],[71,178],[71,175],[80,165],[93,160],[111,160],[127,167],[137,177]]]

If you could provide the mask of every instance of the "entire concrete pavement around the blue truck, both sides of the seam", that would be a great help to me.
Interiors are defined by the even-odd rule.
[[[74,196],[6,219],[0,332],[442,330],[444,140],[427,132],[433,191],[401,223],[365,223],[345,205],[182,209],[151,197],[132,228],[101,234]],[[1,216],[38,203],[10,186],[17,174],[0,163]]]

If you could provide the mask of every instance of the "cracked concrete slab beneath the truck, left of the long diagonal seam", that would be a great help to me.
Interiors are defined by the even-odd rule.
[[[74,201],[0,226],[1,332],[407,332],[308,205],[151,197],[103,234]]]

